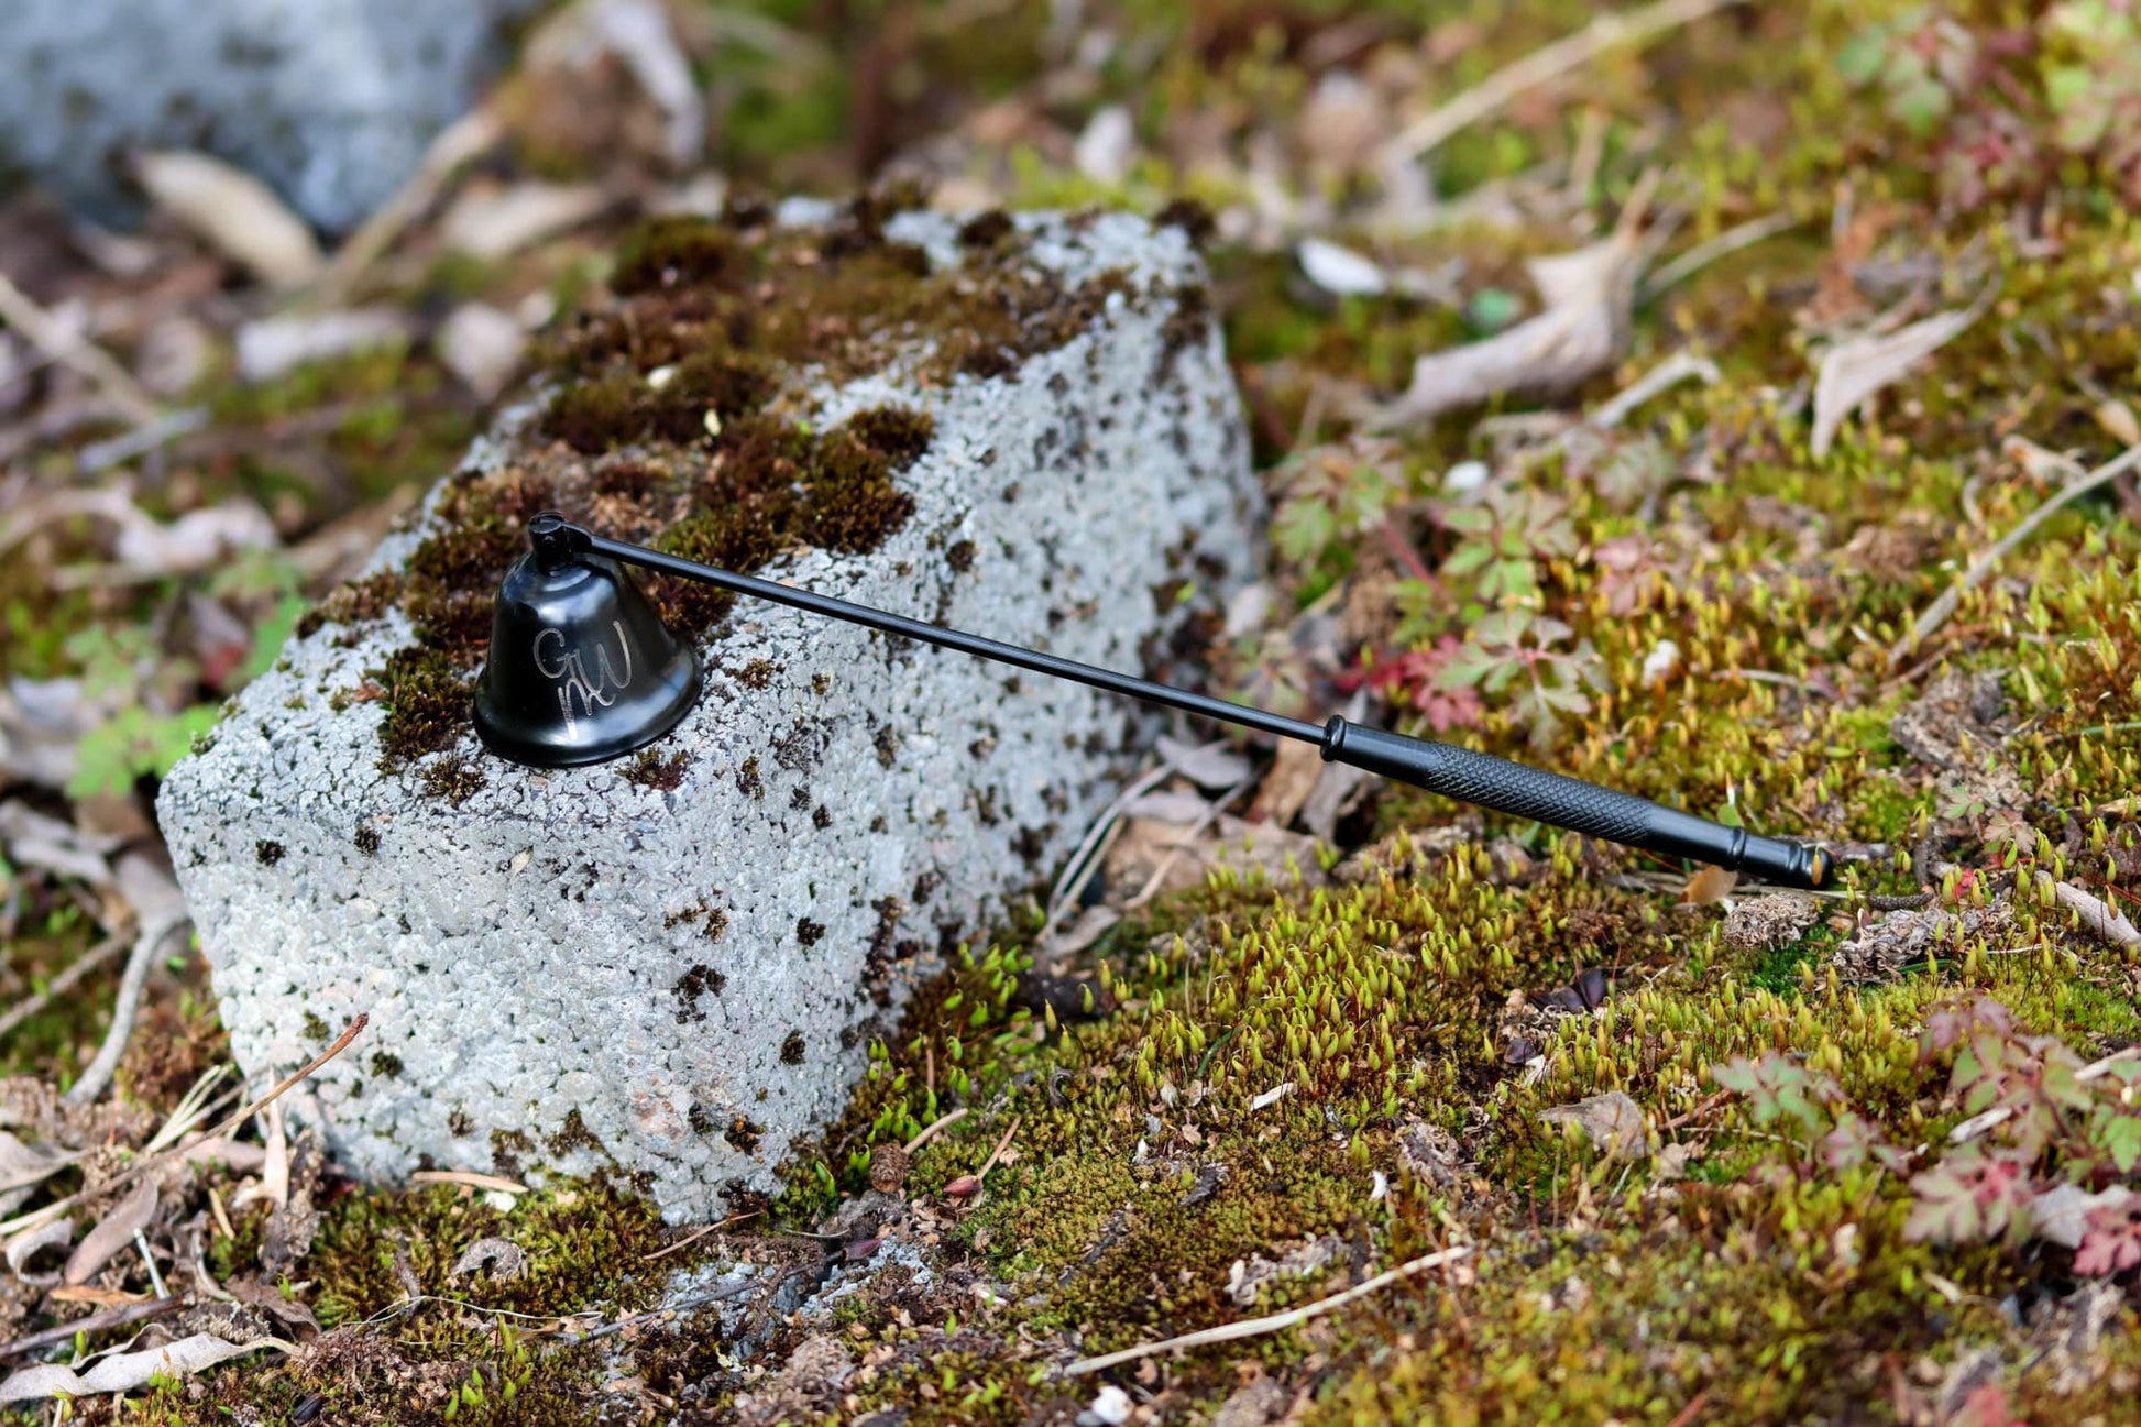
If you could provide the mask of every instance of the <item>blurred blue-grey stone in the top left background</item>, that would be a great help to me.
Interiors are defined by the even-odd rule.
[[[328,229],[415,171],[505,58],[533,0],[17,0],[0,60],[0,163],[113,221],[120,161],[199,148]]]

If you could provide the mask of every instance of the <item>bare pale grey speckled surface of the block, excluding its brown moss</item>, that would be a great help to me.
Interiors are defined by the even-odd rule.
[[[955,231],[884,225],[940,266]],[[904,405],[933,437],[878,549],[790,549],[762,574],[1165,671],[1248,579],[1261,519],[1201,259],[1120,214],[1019,234],[1017,261],[1085,285],[1092,319],[989,377],[906,379],[927,334],[837,386],[792,373],[811,431]],[[471,454],[540,461],[580,459],[533,405]],[[454,486],[375,572],[407,568]],[[398,765],[375,679],[413,636],[398,609],[300,632],[163,784],[233,1052],[265,1080],[366,1011],[300,1103],[343,1163],[614,1163],[672,1217],[775,1189],[910,990],[1062,861],[1154,728],[1081,686],[756,604],[700,641],[707,692],[638,769],[510,765],[465,720]]]

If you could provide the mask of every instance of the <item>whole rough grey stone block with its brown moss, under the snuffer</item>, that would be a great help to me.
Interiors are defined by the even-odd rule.
[[[707,671],[692,714],[614,763],[505,763],[469,699],[531,514],[1186,681],[1171,636],[1252,568],[1248,439],[1180,229],[784,219],[629,240],[623,313],[574,328],[163,784],[238,1063],[263,1078],[373,1013],[291,1108],[364,1176],[617,1166],[694,1221],[775,1189],[916,981],[1060,863],[1158,726],[651,579]]]

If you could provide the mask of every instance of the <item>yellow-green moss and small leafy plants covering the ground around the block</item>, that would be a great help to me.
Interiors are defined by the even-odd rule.
[[[2132,482],[2064,506],[1910,630],[2072,471],[2141,441],[2141,21],[2087,0],[1726,9],[1460,129],[1428,163],[1447,208],[1381,227],[1372,165],[1306,118],[1330,73],[1411,64],[1419,111],[1586,6],[1128,4],[1068,101],[1036,99],[1043,6],[972,30],[916,6],[869,19],[786,75],[717,45],[722,161],[833,184],[829,150],[968,133],[989,101],[1060,114],[1062,137],[1124,103],[1141,146],[1120,182],[1045,135],[959,152],[1013,206],[1190,193],[1225,216],[1272,180],[1330,210],[1306,231],[1445,274],[1426,298],[1334,296],[1302,272],[1304,234],[1210,240],[1276,504],[1272,606],[1214,649],[1223,681],[1289,711],[1366,690],[1402,728],[1824,838],[1843,881],[1811,908],[1726,889],[1728,913],[1691,868],[1375,791],[1293,872],[1218,874],[1081,951],[1047,949],[1038,913],[1002,928],[916,1001],[747,1221],[647,1260],[683,1230],[629,1185],[503,1211],[328,1176],[317,1238],[278,1279],[325,1335],[71,1421],[2130,1421],[2141,1061],[2120,1056],[2141,979],[2083,913],[2141,902]],[[1000,49],[955,69],[976,30]],[[1190,120],[1285,152],[1267,174],[1188,163],[1169,133]],[[570,146],[522,161],[576,163]],[[1377,429],[1415,358],[1539,313],[1522,259],[1638,204],[1653,279],[1779,219],[1636,285],[1591,375]],[[578,291],[602,272],[591,244],[454,281]],[[1974,306],[1813,454],[1824,354]],[[1674,356],[1715,377],[1576,422]],[[223,409],[377,405],[336,426],[360,471],[450,465],[465,411],[379,405],[377,373],[345,375],[358,396],[310,373],[289,409],[261,392]],[[216,478],[272,489],[248,461]],[[1467,463],[1484,484],[1454,480]],[[24,632],[11,671],[43,675],[109,649],[32,632],[109,626],[111,645],[156,596],[54,594],[0,566],[0,598]],[[199,671],[188,690],[176,707],[216,694]],[[167,763],[158,748],[143,735],[118,784]],[[9,941],[24,977],[92,941],[64,898],[32,896]],[[178,998],[188,977],[152,996],[128,1103],[167,1108],[221,1054],[206,1007]],[[69,1076],[88,1016],[69,1001],[24,1026],[11,1063]],[[839,1253],[784,1234],[818,1232],[886,1163],[878,1146],[953,1110],[884,1176],[904,1226],[871,1219],[927,1275],[886,1268],[814,1328],[760,1313],[730,1339],[702,1311],[574,1341],[653,1309],[672,1268]],[[231,1232],[203,1215],[212,1273],[259,1271],[268,1211]],[[454,1281],[484,1236],[529,1273]],[[1062,1371],[1449,1249],[1297,1328]]]

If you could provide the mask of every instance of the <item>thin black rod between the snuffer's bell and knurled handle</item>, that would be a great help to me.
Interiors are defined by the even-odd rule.
[[[1032,669],[1034,673],[1045,673],[1058,679],[1073,679],[1111,694],[1126,694],[1130,699],[1143,699],[1145,703],[1167,705],[1169,709],[1182,709],[1184,714],[1197,714],[1199,718],[1214,718],[1218,722],[1257,728],[1259,733],[1272,733],[1282,739],[1300,739],[1304,743],[1317,743],[1319,748],[1323,746],[1321,724],[1304,724],[1297,718],[1267,714],[1265,709],[1227,703],[1225,699],[1212,699],[1208,694],[1193,694],[1188,690],[1169,688],[1167,684],[1154,684],[1152,679],[1135,679],[1126,673],[1115,673],[1113,669],[1098,669],[1094,664],[1079,664],[1077,660],[1058,658],[1053,654],[1021,649],[996,639],[983,639],[981,634],[968,634],[966,630],[948,630],[942,624],[891,615],[882,609],[835,600],[833,596],[822,596],[809,589],[775,585],[773,581],[760,581],[749,574],[702,566],[696,559],[664,555],[662,551],[649,551],[638,544],[625,544],[623,540],[608,540],[604,536],[589,534],[587,549],[595,555],[608,555],[610,559],[655,570],[659,574],[702,581],[732,594],[751,596],[756,600],[773,600],[775,604],[805,609],[814,615],[826,615],[831,619],[846,619],[848,624],[861,624],[886,634],[899,634],[901,639],[918,639],[925,645],[974,654],[985,660],[996,660],[998,664],[1015,664],[1019,669]]]

